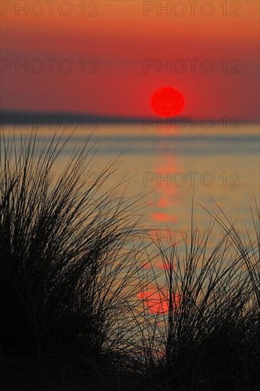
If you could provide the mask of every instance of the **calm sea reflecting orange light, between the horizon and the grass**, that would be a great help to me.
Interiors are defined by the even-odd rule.
[[[210,221],[210,214],[202,207],[215,213],[217,205],[225,215],[237,219],[237,230],[245,224],[250,235],[254,235],[250,207],[254,209],[254,195],[259,199],[259,127],[240,124],[239,128],[223,129],[216,125],[213,129],[157,129],[150,125],[143,129],[142,124],[99,124],[90,140],[90,146],[97,143],[99,149],[91,174],[82,178],[82,187],[88,186],[111,159],[120,155],[120,166],[107,181],[107,188],[119,183],[126,174],[134,176],[126,195],[146,192],[143,200],[150,205],[143,210],[142,227],[153,229],[154,235],[164,242],[173,239],[181,243],[189,235],[193,194],[199,235],[204,235]],[[6,127],[5,132],[9,131]],[[50,141],[53,132],[48,127],[40,129],[39,141]],[[64,171],[75,146],[80,146],[92,132],[76,130],[53,175],[57,177]],[[221,235],[222,230],[215,227],[212,242]]]

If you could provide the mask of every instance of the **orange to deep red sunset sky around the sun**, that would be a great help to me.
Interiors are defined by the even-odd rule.
[[[27,15],[17,8],[25,3],[34,4],[31,9],[27,5]],[[157,1],[37,3],[1,1],[1,109],[136,117],[153,114],[153,91],[169,85],[185,97],[183,115],[258,119],[258,0],[183,1],[183,9],[180,1],[159,2],[161,7],[170,4],[168,15],[156,8]],[[40,65],[35,58],[44,65],[39,73],[30,69]],[[46,58],[57,59],[53,71]],[[64,58],[72,64],[69,73],[58,68]],[[173,68],[168,73],[153,66],[145,73],[146,58],[155,63],[168,58]],[[178,58],[186,65],[179,73]],[[197,59],[194,72],[189,58]],[[215,67],[211,73],[200,68],[205,58]],[[28,73],[15,65],[24,61]],[[97,73],[87,72],[91,65]]]

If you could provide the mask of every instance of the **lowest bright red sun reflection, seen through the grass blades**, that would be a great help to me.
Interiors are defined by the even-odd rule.
[[[141,291],[136,295],[148,311],[154,315],[167,314],[169,311],[169,294],[156,288],[149,288],[146,291]],[[180,304],[180,296],[173,294],[173,309],[176,309]]]

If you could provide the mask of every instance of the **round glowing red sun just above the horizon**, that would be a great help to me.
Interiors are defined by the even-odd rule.
[[[155,114],[162,117],[173,117],[184,107],[183,95],[172,87],[162,87],[153,92],[151,108]]]

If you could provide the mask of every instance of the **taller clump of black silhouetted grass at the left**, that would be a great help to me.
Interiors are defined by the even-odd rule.
[[[116,161],[82,191],[94,154],[89,139],[51,186],[53,164],[71,137],[58,134],[42,145],[33,133],[1,139],[1,355],[91,365],[110,350],[119,355],[124,342],[141,203],[116,195],[124,181],[102,192]]]

